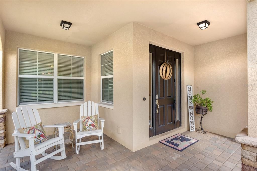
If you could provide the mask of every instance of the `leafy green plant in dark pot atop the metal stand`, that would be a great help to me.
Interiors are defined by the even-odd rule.
[[[212,103],[213,101],[206,97],[203,99],[203,95],[206,94],[206,90],[201,90],[202,95],[199,93],[195,94],[192,99],[192,103],[196,106],[195,111],[198,114],[207,114],[207,111],[209,110],[212,112]]]

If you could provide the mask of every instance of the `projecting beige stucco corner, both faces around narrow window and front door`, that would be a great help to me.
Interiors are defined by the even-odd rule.
[[[152,138],[149,138],[149,43],[182,53],[182,127]],[[193,46],[133,22],[91,48],[91,99],[96,102],[101,98],[100,54],[114,50],[114,109],[99,107],[107,136],[136,151],[189,129],[185,91],[187,84],[194,85]]]

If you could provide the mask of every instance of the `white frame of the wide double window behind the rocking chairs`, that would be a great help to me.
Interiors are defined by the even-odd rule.
[[[42,53],[51,53],[53,54],[53,76],[44,76],[44,75],[20,75],[20,50],[33,51],[33,52],[42,52]],[[78,58],[83,58],[83,77],[63,77],[57,76],[58,74],[58,55],[66,55],[66,56],[74,56]],[[18,48],[17,51],[17,70],[18,70],[18,81],[17,81],[17,107],[20,106],[31,106],[35,109],[42,108],[53,108],[53,107],[64,107],[64,106],[78,106],[81,105],[85,101],[85,57],[84,56],[75,56],[75,55],[67,55],[61,53],[54,52],[46,52],[46,51],[38,51],[32,49],[23,49]],[[53,79],[53,103],[36,103],[36,104],[27,104],[20,105],[20,78],[52,78]],[[83,80],[83,100],[79,101],[68,101],[68,102],[58,102],[58,87],[57,87],[57,79],[81,79]]]

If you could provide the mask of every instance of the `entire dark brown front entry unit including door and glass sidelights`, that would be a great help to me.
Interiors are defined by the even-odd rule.
[[[181,127],[181,53],[150,44],[149,59],[152,66],[149,69],[149,136],[152,137]],[[166,61],[172,66],[172,77],[163,80],[159,69]]]

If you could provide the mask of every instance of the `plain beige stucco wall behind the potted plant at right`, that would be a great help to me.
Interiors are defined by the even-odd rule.
[[[194,84],[194,94],[206,90],[203,97],[214,101],[205,131],[234,138],[247,125],[246,34],[195,46]],[[196,114],[195,122],[198,128]]]

